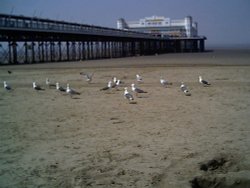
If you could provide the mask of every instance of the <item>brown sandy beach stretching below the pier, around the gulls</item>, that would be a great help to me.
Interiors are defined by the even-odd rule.
[[[0,187],[250,187],[249,65],[245,50],[2,66],[14,90],[0,89]],[[92,83],[79,72],[94,72]],[[148,93],[135,104],[123,87],[100,91],[137,73]],[[46,77],[81,95],[49,89]]]

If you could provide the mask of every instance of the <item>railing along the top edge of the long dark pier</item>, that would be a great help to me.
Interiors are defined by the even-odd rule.
[[[33,32],[53,32],[53,33],[70,33],[82,35],[97,35],[109,37],[129,37],[129,38],[146,38],[160,39],[142,32],[119,30],[114,28],[92,26],[87,24],[70,23],[65,21],[56,21],[37,17],[25,17],[0,14],[1,30],[19,30]]]

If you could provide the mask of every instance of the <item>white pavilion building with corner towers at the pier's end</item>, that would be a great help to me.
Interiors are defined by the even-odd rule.
[[[182,20],[171,20],[163,16],[145,17],[139,21],[117,20],[117,29],[151,33],[162,37],[197,37],[197,22],[191,16]]]

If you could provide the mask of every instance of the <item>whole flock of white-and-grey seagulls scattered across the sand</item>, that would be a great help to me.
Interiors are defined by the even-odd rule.
[[[10,74],[10,71],[8,71],[8,73]],[[92,81],[92,78],[93,78],[93,75],[94,73],[91,73],[91,74],[87,74],[87,73],[84,73],[84,72],[80,72],[80,75],[82,75],[86,82],[87,83],[91,83]],[[106,91],[106,90],[111,90],[112,88],[118,88],[119,86],[121,86],[121,84],[124,84],[123,81],[117,79],[116,77],[113,77],[112,78],[113,80],[109,81],[107,86],[103,87],[100,89],[100,91]],[[136,74],[136,82],[138,84],[140,83],[143,83],[143,78],[141,75],[139,74]],[[201,76],[199,76],[199,83],[202,84],[203,86],[209,86],[210,83],[206,80],[204,80]],[[7,91],[11,91],[12,88],[10,85],[8,85],[8,83],[6,81],[3,82],[4,84],[4,88],[5,90]],[[41,86],[37,85],[36,82],[33,82],[33,89],[34,90],[45,90],[44,88],[42,88]],[[168,82],[166,79],[164,78],[160,78],[160,84],[163,86],[163,87],[167,87],[168,85],[172,85],[171,82]],[[67,87],[66,88],[63,88],[59,85],[59,83],[51,83],[50,80],[48,78],[46,78],[46,85],[49,87],[49,88],[55,88],[57,89],[58,91],[60,92],[65,92],[65,93],[68,93],[71,98],[73,95],[80,95],[80,92],[70,88],[69,84],[67,83]],[[138,94],[140,93],[147,93],[147,91],[144,91],[140,88],[138,88],[134,83],[131,84],[131,90],[133,93],[135,93],[135,95],[137,96]],[[184,82],[181,82],[181,85],[180,85],[180,90],[186,95],[186,96],[191,96],[191,93],[190,91],[188,90],[188,87],[184,84]],[[127,99],[128,101],[133,101],[134,100],[134,96],[132,93],[130,93],[128,91],[128,87],[124,87],[124,98]]]

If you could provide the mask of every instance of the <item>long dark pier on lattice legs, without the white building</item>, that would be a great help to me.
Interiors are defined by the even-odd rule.
[[[0,64],[203,52],[206,37],[169,38],[65,21],[0,14]]]

